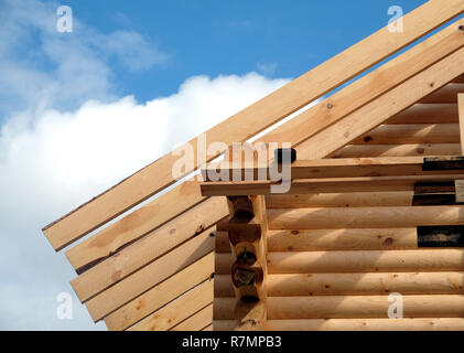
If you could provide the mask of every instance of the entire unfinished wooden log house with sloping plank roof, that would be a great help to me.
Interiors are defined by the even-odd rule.
[[[170,153],[46,226],[55,250],[93,233],[66,252],[91,318],[109,330],[463,330],[463,12],[464,0],[428,1],[402,32],[374,33],[205,132],[290,142],[294,161],[267,149],[268,167],[224,169],[252,179],[213,181],[218,165],[195,159],[183,175],[203,181],[175,183]],[[272,165],[291,170],[283,194]]]

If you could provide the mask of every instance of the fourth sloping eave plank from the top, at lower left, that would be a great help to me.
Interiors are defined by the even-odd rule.
[[[211,231],[207,229],[89,299],[86,307],[90,317],[94,321],[105,318],[168,277],[211,253],[214,249],[214,237],[209,236],[209,233]]]

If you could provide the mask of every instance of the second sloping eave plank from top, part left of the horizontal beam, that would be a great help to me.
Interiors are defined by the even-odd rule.
[[[197,182],[185,182],[71,248],[66,257],[78,272],[83,272],[204,200]],[[214,201],[224,210],[220,202],[224,200]],[[187,212],[186,217],[195,217],[194,211]],[[205,222],[204,216],[199,220]]]

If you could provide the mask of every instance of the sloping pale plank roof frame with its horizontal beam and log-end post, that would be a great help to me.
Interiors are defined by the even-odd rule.
[[[247,141],[463,12],[464,0],[449,0],[445,6],[442,0],[430,0],[404,17],[408,23],[404,32],[390,33],[388,28],[384,28],[209,129],[206,138],[228,146]],[[401,161],[322,161],[463,73],[464,20],[458,20],[257,141],[291,142],[296,149],[300,161],[292,167],[292,172],[299,178],[292,182],[290,193],[346,190],[347,180],[350,182],[349,190],[390,191],[410,188],[418,181],[464,179],[456,170],[424,172],[424,160],[419,158]],[[460,97],[461,113],[462,101]],[[197,138],[187,142],[194,147],[195,154],[196,141]],[[220,152],[224,151],[208,156],[206,162],[220,156]],[[234,268],[255,274],[258,270],[266,277],[266,243],[262,243],[262,237],[268,226],[262,195],[270,192],[272,182],[206,181],[201,184],[191,179],[165,191],[175,182],[171,170],[176,160],[177,156],[172,153],[162,157],[43,228],[53,248],[61,250],[142,201],[163,192],[155,200],[98,229],[91,237],[66,252],[69,263],[79,274],[72,282],[79,300],[87,306],[95,321],[104,319],[111,330],[169,329],[170,324],[177,325],[186,319],[194,324],[195,315],[201,318],[209,312],[211,302],[204,296],[211,290],[207,277],[212,268],[207,258],[214,250],[215,242],[211,235],[217,231],[238,232],[240,240],[233,242],[238,261]],[[185,170],[184,175],[204,167],[203,162],[195,160],[194,168]],[[399,172],[399,169],[408,172]],[[319,178],[314,178],[315,170]],[[373,176],[373,172],[377,174]],[[237,218],[236,204],[230,203],[234,199],[225,203],[223,199],[212,197],[214,195],[246,195],[252,205],[252,217]],[[227,225],[216,229],[216,224],[224,218],[228,220]],[[260,236],[250,240],[247,236],[255,232],[252,229],[257,225]],[[171,236],[172,227],[182,232]],[[240,263],[239,256],[244,248],[253,249],[259,259],[259,269]],[[185,257],[186,261],[180,260]],[[179,282],[193,289],[185,292],[188,288],[179,287]],[[266,303],[265,282],[261,280],[253,281],[251,286],[237,286],[237,298],[248,297],[249,291],[255,290],[259,302]],[[164,308],[173,298],[179,300],[173,303],[174,307]],[[174,314],[175,306],[180,308],[186,300],[194,303],[195,311],[182,311],[170,323],[163,321],[164,317]],[[149,304],[134,313],[133,308],[139,308],[141,302]],[[160,308],[164,308],[161,313],[157,312]],[[238,327],[266,328],[266,306],[263,308],[257,307],[256,302],[237,308]]]

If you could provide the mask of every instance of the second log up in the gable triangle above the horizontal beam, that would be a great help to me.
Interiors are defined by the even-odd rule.
[[[460,143],[457,124],[381,125],[350,145]]]

